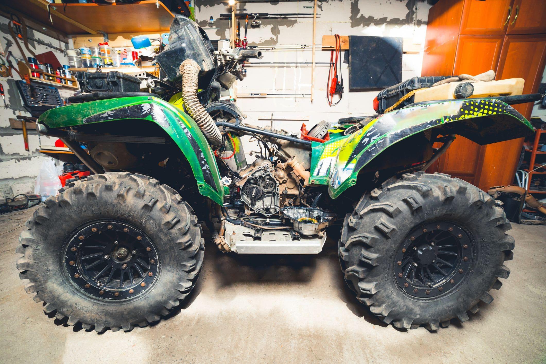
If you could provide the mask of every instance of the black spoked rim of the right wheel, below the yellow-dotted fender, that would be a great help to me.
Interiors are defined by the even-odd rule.
[[[394,259],[395,279],[408,295],[445,295],[467,275],[474,256],[472,238],[450,222],[419,225],[408,234]]]

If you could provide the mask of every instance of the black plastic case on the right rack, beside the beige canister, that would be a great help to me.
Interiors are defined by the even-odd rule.
[[[409,80],[400,82],[397,85],[390,86],[385,88],[383,91],[377,94],[377,101],[379,102],[379,114],[383,114],[386,109],[390,108],[396,104],[403,96],[408,92],[417,89],[431,87],[434,83],[438,81],[445,80],[453,76],[423,76],[423,77],[412,77]],[[406,105],[413,104],[413,96],[407,98],[403,103],[401,108]]]

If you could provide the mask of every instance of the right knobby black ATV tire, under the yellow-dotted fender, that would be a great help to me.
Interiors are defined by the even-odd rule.
[[[450,226],[457,234],[450,238],[466,239],[464,245],[449,245],[452,252],[459,249],[464,255],[464,259],[456,260],[455,256],[456,262],[448,262],[454,271],[445,273],[452,276],[433,285],[428,273],[421,271],[430,280],[430,289],[412,286],[418,282],[415,277],[416,281],[411,277],[405,281],[406,272],[401,270],[405,263],[398,258],[417,254],[404,247],[410,249],[417,236],[414,231],[427,234],[424,226],[444,230]],[[502,208],[470,183],[438,173],[405,174],[364,194],[355,211],[347,214],[339,241],[341,268],[358,300],[385,323],[401,329],[423,325],[437,330],[453,318],[468,320],[467,311],[476,313],[479,301],[493,300],[489,290],[499,289],[502,283],[498,278],[508,278],[510,273],[503,265],[513,256],[514,238],[505,234],[509,229]],[[411,260],[411,264],[417,262]],[[442,265],[444,268],[449,271],[449,266]],[[407,269],[413,271],[411,266]]]

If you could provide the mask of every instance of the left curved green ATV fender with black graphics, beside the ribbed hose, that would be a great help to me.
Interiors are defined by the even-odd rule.
[[[146,120],[162,127],[187,158],[199,193],[223,204],[220,173],[205,136],[191,117],[162,99],[139,96],[72,104],[44,112],[38,122],[49,128],[67,128],[126,119]]]

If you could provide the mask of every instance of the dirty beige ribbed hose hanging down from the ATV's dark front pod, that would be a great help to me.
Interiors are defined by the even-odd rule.
[[[197,98],[197,81],[201,67],[193,59],[186,59],[180,64],[182,74],[182,97],[189,115],[195,120],[205,138],[215,147],[222,145],[222,135],[209,113]]]

